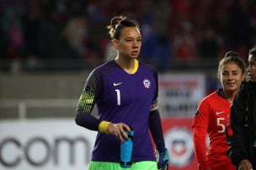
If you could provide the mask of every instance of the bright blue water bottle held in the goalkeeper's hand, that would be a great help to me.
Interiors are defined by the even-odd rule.
[[[128,140],[121,142],[120,144],[120,166],[121,167],[131,167],[132,165],[132,152],[133,152],[133,135],[134,131],[130,127],[131,132],[125,131],[128,136]]]

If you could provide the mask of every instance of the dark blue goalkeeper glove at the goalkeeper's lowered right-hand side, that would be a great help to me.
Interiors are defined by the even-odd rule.
[[[163,151],[158,152],[157,154],[157,169],[159,170],[168,170],[169,154],[168,150],[164,148]]]

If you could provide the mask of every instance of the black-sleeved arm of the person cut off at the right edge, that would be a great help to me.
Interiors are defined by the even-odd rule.
[[[243,160],[249,159],[243,136],[246,97],[246,91],[242,88],[233,101],[231,114],[226,127],[226,140],[229,145],[227,155],[236,166]]]

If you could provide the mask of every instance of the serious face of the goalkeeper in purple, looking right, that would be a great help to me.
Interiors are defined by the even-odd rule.
[[[136,59],[141,52],[141,33],[136,27],[126,27],[120,32],[120,39],[114,40],[120,57]]]

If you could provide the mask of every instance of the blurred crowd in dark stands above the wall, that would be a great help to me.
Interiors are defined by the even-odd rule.
[[[141,59],[160,70],[227,50],[247,59],[256,44],[253,0],[2,0],[0,59],[109,59],[105,27],[120,14],[139,21]]]

